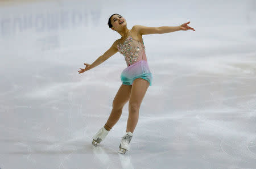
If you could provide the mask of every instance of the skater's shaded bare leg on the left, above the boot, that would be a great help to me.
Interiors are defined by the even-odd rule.
[[[106,130],[112,129],[112,127],[117,123],[120,116],[122,115],[123,106],[128,102],[131,94],[131,85],[122,84],[115,95],[112,104],[112,111],[110,113],[109,119],[104,125]]]

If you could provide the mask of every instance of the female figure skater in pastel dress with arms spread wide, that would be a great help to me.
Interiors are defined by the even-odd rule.
[[[93,137],[92,144],[97,146],[108,135],[110,129],[119,120],[123,106],[129,101],[129,117],[127,120],[126,133],[122,137],[119,145],[119,153],[125,154],[130,149],[129,143],[133,137],[135,126],[137,125],[139,118],[139,108],[142,103],[142,99],[146,94],[148,86],[151,86],[152,74],[147,64],[147,58],[145,54],[145,47],[142,39],[142,35],[153,33],[168,33],[179,30],[187,31],[188,29],[195,29],[187,26],[187,23],[181,24],[177,27],[144,27],[141,25],[135,25],[130,30],[127,29],[126,19],[119,14],[113,14],[109,18],[109,28],[117,31],[122,37],[115,40],[112,47],[110,47],[102,56],[98,57],[93,64],[84,64],[85,69],[79,70],[79,73],[90,70],[108,58],[113,54],[119,52],[125,57],[127,64],[126,69],[121,73],[121,87],[119,88],[112,104],[112,112],[110,113],[106,124],[98,130]]]

